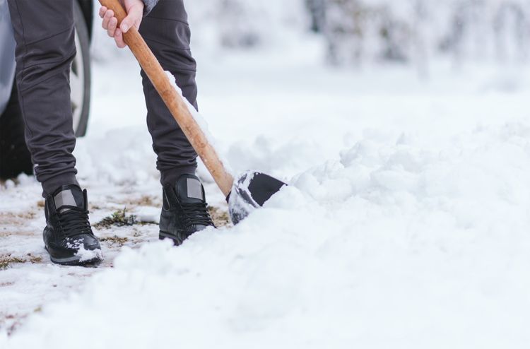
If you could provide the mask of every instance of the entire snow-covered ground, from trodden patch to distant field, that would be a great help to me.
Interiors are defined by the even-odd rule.
[[[292,184],[236,227],[178,248],[155,224],[99,227],[102,266],[56,266],[39,185],[2,187],[0,348],[525,348],[530,70],[319,52],[195,52],[220,153]],[[94,66],[76,149],[93,224],[160,206],[138,68],[118,57]]]

